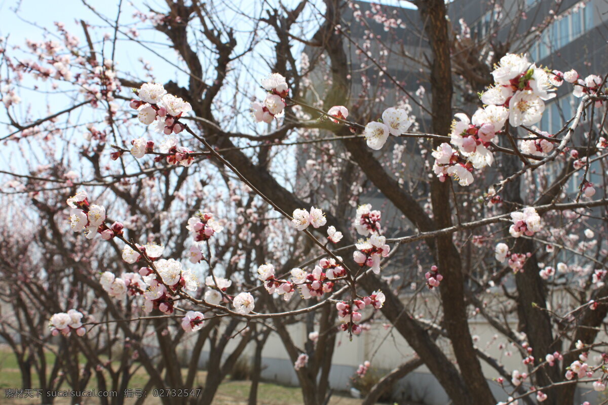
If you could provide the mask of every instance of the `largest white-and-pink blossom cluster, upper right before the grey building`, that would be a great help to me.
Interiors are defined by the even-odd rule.
[[[564,80],[573,83],[578,74],[550,72],[531,64],[525,56],[508,53],[500,58],[492,77],[494,84],[481,94],[486,106],[478,109],[470,120],[465,114],[456,114],[457,120],[452,122],[449,134],[451,145],[442,143],[432,152],[435,158],[433,169],[442,182],[449,176],[461,186],[470,185],[474,180],[474,168],[492,165],[494,157],[488,147],[492,138],[503,130],[506,120],[513,127],[538,123],[545,111],[545,101],[556,96],[554,87],[561,86]],[[575,86],[575,93],[598,90],[596,77],[587,79]],[[546,132],[541,134],[551,137]],[[538,156],[553,150],[551,141],[542,138],[523,140],[520,146],[524,153]]]

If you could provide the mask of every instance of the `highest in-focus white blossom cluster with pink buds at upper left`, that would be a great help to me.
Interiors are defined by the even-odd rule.
[[[179,134],[184,124],[179,122],[183,114],[192,111],[190,103],[174,95],[159,83],[144,83],[139,90],[133,90],[140,100],[131,100],[131,108],[137,110],[137,118],[142,124],[156,121],[156,131],[165,135]]]

